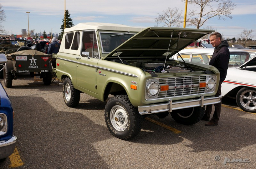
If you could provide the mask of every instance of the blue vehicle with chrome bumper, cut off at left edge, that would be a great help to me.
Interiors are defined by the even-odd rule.
[[[6,56],[0,54],[0,63],[6,62]],[[17,137],[13,136],[13,116],[11,100],[0,83],[0,159],[10,156],[16,146]]]

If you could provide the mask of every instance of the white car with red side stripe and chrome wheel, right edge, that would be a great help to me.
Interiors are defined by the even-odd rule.
[[[221,92],[223,96],[235,97],[242,110],[256,113],[256,56],[240,67],[228,68]]]

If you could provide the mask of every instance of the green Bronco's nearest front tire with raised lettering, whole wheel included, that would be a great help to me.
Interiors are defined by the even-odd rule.
[[[142,116],[134,108],[127,95],[117,95],[109,99],[105,106],[105,122],[112,135],[128,140],[141,130]]]

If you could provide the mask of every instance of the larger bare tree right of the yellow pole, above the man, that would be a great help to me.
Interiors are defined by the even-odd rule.
[[[218,20],[232,19],[230,14],[236,7],[236,4],[232,3],[231,0],[188,0],[188,3],[199,7],[199,10],[190,10],[187,19],[188,25],[195,25],[197,29],[213,17],[218,17]],[[213,4],[216,3],[218,5],[215,7]]]

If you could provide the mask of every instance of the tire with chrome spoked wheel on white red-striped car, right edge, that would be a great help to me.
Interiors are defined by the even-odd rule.
[[[236,96],[237,105],[246,112],[256,113],[256,90],[242,88]]]

